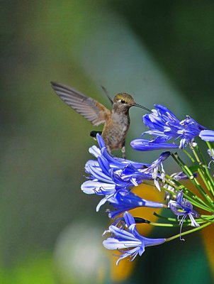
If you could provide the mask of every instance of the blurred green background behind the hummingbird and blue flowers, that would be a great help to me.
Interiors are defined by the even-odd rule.
[[[0,283],[111,283],[98,249],[105,209],[80,190],[94,127],[50,81],[108,107],[101,85],[129,92],[212,129],[214,2],[2,0],[0,15]],[[157,153],[128,146],[145,130],[142,114],[130,110],[128,158],[151,162]],[[136,262],[125,283],[211,283],[199,234]]]

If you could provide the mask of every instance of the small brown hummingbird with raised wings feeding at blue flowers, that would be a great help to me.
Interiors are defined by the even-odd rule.
[[[106,89],[103,88],[112,104],[112,109],[109,110],[100,102],[97,102],[91,97],[86,97],[72,87],[56,82],[50,83],[52,89],[54,89],[60,99],[88,119],[91,124],[94,126],[104,124],[101,135],[103,141],[106,143],[108,153],[111,154],[112,150],[121,149],[123,158],[125,158],[125,136],[130,126],[130,107],[140,107],[146,111],[152,111],[146,107],[142,107],[140,104],[136,104],[133,97],[125,92],[116,94],[116,96],[111,99]],[[93,133],[100,133],[100,131],[92,131],[91,136],[93,136]]]

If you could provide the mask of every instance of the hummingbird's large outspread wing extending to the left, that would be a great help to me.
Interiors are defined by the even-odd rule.
[[[75,109],[75,111],[79,112],[79,114],[84,116],[95,126],[104,124],[107,116],[111,114],[111,111],[106,109],[103,104],[96,102],[96,100],[91,99],[91,97],[86,97],[75,89],[55,82],[51,82],[51,86],[69,107]]]

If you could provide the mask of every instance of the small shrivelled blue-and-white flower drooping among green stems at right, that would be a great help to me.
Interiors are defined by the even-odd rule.
[[[171,211],[178,216],[178,219],[180,216],[183,216],[180,221],[181,227],[187,216],[191,219],[191,226],[200,226],[194,219],[194,217],[198,218],[200,215],[198,214],[198,212],[196,212],[196,210],[193,209],[193,205],[191,204],[191,202],[189,202],[183,197],[182,190],[177,194],[176,201],[170,200],[168,206]]]

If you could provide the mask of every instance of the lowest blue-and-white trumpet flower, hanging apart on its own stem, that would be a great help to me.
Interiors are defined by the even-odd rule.
[[[136,229],[135,219],[130,213],[125,212],[123,218],[126,229],[114,225],[109,226],[108,231],[111,233],[111,237],[103,241],[103,246],[106,249],[118,249],[122,253],[116,262],[117,265],[123,258],[130,257],[133,261],[137,254],[142,256],[146,246],[157,246],[166,241],[166,239],[149,239],[140,235]]]

